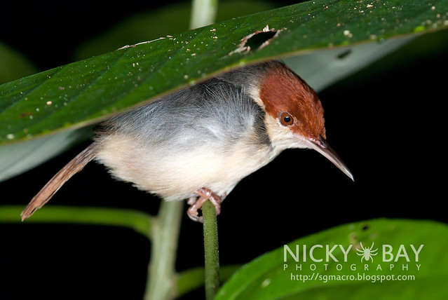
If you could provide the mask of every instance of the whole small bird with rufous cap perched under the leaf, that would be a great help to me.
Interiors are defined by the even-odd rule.
[[[50,200],[92,160],[112,177],[168,201],[187,200],[187,214],[222,200],[241,179],[288,148],[318,151],[353,180],[325,141],[318,95],[276,60],[229,71],[113,116],[93,143],[37,193],[22,220]]]

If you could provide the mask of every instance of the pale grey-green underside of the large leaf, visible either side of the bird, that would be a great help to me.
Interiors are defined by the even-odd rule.
[[[383,55],[393,52],[414,36],[392,39],[387,43],[361,43],[330,50],[321,50],[284,59],[316,91],[358,71]],[[428,43],[428,41],[426,41]],[[348,54],[347,54],[348,53]],[[79,133],[86,133],[80,135]],[[79,140],[87,139],[91,130],[64,130],[55,135],[31,139],[0,147],[0,181],[30,170],[60,154]],[[4,163],[2,163],[4,162]]]

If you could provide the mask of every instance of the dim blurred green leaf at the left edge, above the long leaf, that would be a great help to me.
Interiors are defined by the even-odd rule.
[[[37,68],[23,55],[0,42],[0,83],[36,73]]]

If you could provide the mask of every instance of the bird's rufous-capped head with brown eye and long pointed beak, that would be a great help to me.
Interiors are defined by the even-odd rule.
[[[271,120],[271,128],[266,129],[281,135],[280,143],[315,149],[353,179],[325,140],[323,107],[315,91],[285,64],[275,62],[268,66],[259,83],[259,98]]]

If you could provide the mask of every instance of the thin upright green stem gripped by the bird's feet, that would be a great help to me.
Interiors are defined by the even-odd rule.
[[[205,299],[212,300],[219,287],[218,226],[215,205],[206,201],[202,205],[204,218]]]

